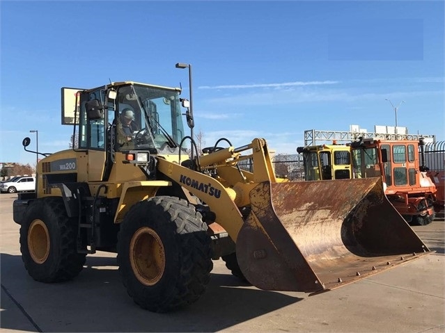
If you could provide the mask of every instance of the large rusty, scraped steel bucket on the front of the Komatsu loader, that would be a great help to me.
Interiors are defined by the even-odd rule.
[[[380,177],[265,181],[250,197],[236,252],[260,289],[320,293],[431,253],[387,200]]]

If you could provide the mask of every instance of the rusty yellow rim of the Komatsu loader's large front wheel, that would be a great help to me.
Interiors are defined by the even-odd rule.
[[[141,227],[130,242],[130,263],[136,278],[146,286],[159,282],[165,269],[165,252],[161,238],[149,227]]]

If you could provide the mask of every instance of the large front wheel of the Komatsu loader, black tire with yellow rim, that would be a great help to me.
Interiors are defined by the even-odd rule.
[[[118,234],[118,266],[136,304],[167,312],[196,302],[213,268],[207,225],[177,197],[152,197],[127,212]]]

